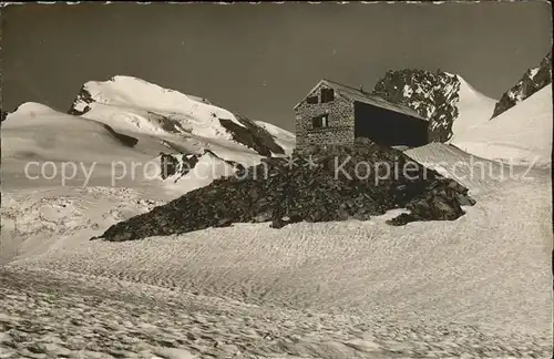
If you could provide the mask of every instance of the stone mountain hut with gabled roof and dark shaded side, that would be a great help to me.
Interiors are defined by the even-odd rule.
[[[428,143],[428,121],[416,111],[329,80],[295,106],[297,148],[350,145],[367,137],[386,146]]]

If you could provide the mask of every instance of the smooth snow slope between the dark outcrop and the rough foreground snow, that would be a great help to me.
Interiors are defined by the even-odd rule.
[[[546,172],[533,176],[490,180],[496,188],[480,193],[476,205],[454,222],[392,227],[384,220],[396,213],[388,213],[369,222],[301,223],[281,229],[239,224],[130,243],[91,242],[96,230],[62,232],[68,225],[43,238],[48,248],[20,248],[8,265],[138,281],[271,308],[353,315],[391,326],[455,321],[488,334],[547,337],[551,181]],[[91,196],[81,194],[81,213],[93,207],[100,213]],[[37,193],[14,195],[2,217],[40,222],[40,207],[29,203],[39,198]],[[75,219],[86,227],[84,218]],[[34,233],[38,243],[40,232]]]

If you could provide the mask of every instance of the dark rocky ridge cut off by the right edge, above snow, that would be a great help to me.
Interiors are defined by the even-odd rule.
[[[552,83],[552,52],[541,61],[538,66],[525,71],[522,79],[502,95],[494,106],[491,119],[515,106],[550,83]]]

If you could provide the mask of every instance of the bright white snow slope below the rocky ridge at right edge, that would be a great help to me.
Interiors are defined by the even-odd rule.
[[[548,166],[552,116],[550,84],[499,116],[468,129],[452,144],[483,158]]]

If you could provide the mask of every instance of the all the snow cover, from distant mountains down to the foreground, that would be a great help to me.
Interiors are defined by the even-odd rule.
[[[523,161],[550,165],[550,86],[491,121],[459,124],[453,146],[406,152],[470,188],[476,204],[456,220],[392,227],[393,211],[368,222],[236,224],[106,243],[90,238],[214,180],[113,186],[113,161],[157,161],[167,142],[227,161],[261,157],[211,120],[227,110],[116,80],[89,83],[96,102],[75,106],[91,105],[90,117],[31,103],[2,122],[0,358],[551,358],[551,172]],[[491,110],[490,99],[463,91],[468,119]],[[197,131],[153,127],[147,113],[174,114],[183,102],[191,111],[176,117],[202,123]],[[516,136],[524,114],[540,131]],[[258,125],[294,147],[289,132]],[[522,162],[502,178],[510,168],[490,160],[506,148]],[[470,154],[490,171],[472,176]],[[29,161],[98,167],[86,186],[84,176],[62,186],[25,178]]]

